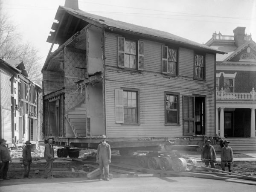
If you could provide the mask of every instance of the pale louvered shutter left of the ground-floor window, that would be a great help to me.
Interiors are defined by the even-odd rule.
[[[123,90],[115,89],[115,119],[116,123],[124,123]]]

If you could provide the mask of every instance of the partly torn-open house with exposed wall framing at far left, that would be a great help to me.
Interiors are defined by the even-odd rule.
[[[0,137],[7,143],[38,141],[41,87],[28,79],[23,62],[0,60]]]

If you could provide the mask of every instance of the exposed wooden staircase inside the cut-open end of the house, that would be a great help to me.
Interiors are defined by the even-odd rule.
[[[66,114],[66,119],[69,122],[76,137],[86,137],[89,135],[86,129],[86,104],[81,103],[72,108]]]

